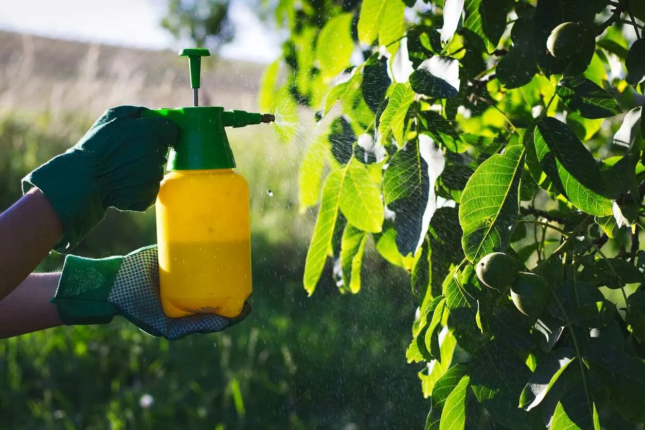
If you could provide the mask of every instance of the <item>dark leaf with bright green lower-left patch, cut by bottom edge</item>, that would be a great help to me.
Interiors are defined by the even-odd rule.
[[[600,430],[596,405],[590,403],[581,381],[567,389],[551,418],[551,430],[575,429]]]

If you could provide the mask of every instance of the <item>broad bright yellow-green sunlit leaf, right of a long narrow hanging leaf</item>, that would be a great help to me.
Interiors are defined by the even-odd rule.
[[[352,159],[345,171],[340,200],[343,215],[360,230],[379,233],[384,212],[379,187],[357,159]]]

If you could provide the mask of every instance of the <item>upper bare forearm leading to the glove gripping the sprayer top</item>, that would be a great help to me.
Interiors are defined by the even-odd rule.
[[[0,214],[0,300],[26,279],[62,235],[54,208],[35,188]]]

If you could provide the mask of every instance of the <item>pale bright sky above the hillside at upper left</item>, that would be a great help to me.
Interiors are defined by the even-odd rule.
[[[231,2],[235,39],[221,54],[270,63],[280,55],[280,35],[253,14],[246,1]],[[164,0],[0,0],[0,30],[136,48],[183,48],[159,26]]]

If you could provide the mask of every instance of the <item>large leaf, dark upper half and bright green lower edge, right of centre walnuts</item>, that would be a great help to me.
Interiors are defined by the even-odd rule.
[[[574,206],[599,217],[611,215],[611,200],[602,195],[598,165],[566,124],[546,117],[537,124],[533,139],[545,173],[561,184]]]

